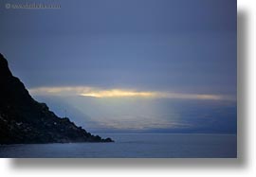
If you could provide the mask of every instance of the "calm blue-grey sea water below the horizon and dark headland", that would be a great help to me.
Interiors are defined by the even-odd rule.
[[[236,158],[235,134],[109,133],[115,143],[0,145],[7,158]]]

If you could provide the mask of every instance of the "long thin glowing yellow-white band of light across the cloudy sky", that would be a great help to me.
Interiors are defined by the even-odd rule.
[[[101,89],[87,86],[39,87],[29,89],[31,95],[82,96],[82,97],[158,97],[176,99],[236,100],[234,97],[210,94],[184,94],[157,91],[136,91],[126,89]]]

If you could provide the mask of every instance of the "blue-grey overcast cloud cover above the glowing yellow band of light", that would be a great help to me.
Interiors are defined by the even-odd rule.
[[[40,2],[61,9],[1,1],[1,52],[29,89],[236,97],[234,0]]]

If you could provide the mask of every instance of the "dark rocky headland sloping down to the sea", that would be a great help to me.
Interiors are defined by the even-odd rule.
[[[113,142],[87,133],[34,100],[0,54],[0,144]]]

